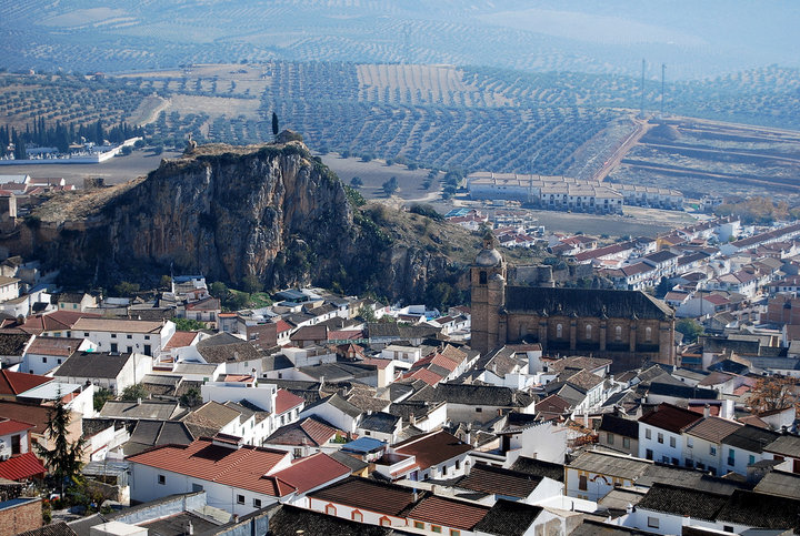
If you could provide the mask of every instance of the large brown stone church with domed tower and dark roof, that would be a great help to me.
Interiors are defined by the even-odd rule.
[[[509,284],[491,237],[471,269],[473,348],[539,343],[546,355],[592,355],[626,370],[673,365],[674,314],[640,291]]]

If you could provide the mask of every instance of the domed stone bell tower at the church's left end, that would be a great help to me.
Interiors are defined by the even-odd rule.
[[[500,309],[506,295],[506,261],[494,249],[494,236],[487,231],[483,249],[471,270],[473,348],[486,352],[500,341]]]

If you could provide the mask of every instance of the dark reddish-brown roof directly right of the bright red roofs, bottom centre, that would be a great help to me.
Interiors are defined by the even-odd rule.
[[[309,497],[391,516],[400,516],[414,502],[410,487],[357,476],[313,492]]]

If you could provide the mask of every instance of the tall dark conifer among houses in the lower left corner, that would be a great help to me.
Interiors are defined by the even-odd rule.
[[[48,413],[48,423],[44,429],[49,436],[48,443],[51,443],[53,447],[48,449],[41,444],[36,445],[37,454],[61,487],[62,496],[66,484],[80,474],[81,456],[86,446],[86,439],[82,436],[73,442],[68,439],[71,419],[71,412],[67,408],[59,392],[56,404]]]

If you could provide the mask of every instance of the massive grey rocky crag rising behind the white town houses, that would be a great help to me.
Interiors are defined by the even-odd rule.
[[[452,279],[444,255],[389,239],[296,141],[199,146],[163,161],[83,224],[70,223],[49,235],[39,229],[36,247],[47,264],[107,283],[172,265],[233,284],[254,275],[267,287],[419,300],[429,282]]]

